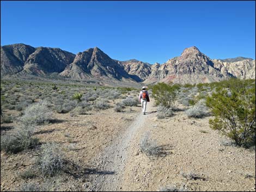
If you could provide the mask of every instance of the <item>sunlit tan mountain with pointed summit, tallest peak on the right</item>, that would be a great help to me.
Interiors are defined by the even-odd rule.
[[[154,70],[146,82],[208,83],[227,78],[215,69],[214,63],[197,47],[184,49],[180,57],[168,60],[162,65],[154,65]]]

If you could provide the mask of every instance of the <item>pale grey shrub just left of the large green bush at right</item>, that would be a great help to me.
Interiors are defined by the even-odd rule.
[[[202,117],[208,115],[207,111],[208,111],[208,109],[205,106],[204,100],[200,100],[192,108],[187,109],[185,111],[185,113],[187,114],[188,117],[202,118]]]

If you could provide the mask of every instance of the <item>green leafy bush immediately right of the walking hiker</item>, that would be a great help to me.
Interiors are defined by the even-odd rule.
[[[152,95],[155,98],[156,105],[162,104],[164,107],[172,107],[176,100],[176,92],[179,90],[179,85],[158,83],[151,86]]]

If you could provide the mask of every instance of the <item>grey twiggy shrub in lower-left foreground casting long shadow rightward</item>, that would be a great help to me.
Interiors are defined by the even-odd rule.
[[[57,144],[43,144],[36,164],[41,174],[45,177],[54,176],[62,171],[64,166],[64,155]]]

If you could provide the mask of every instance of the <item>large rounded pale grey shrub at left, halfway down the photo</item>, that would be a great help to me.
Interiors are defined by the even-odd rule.
[[[32,104],[24,111],[24,115],[19,120],[24,125],[40,125],[52,119],[52,111],[47,107],[46,101]]]

